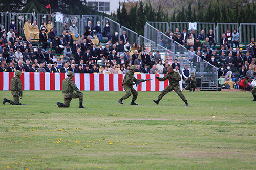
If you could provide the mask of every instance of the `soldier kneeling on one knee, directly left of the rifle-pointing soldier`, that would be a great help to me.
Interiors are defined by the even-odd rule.
[[[57,102],[58,107],[69,107],[72,98],[79,98],[79,108],[86,108],[82,105],[83,94],[76,87],[76,84],[73,81],[74,73],[69,71],[67,78],[62,81],[62,93],[64,97],[64,103]],[[76,91],[77,93],[74,93]]]

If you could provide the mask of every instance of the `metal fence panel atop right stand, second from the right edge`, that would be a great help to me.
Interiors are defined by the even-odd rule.
[[[227,29],[230,30],[230,33],[232,35],[232,32],[234,29],[239,30],[238,23],[217,23],[217,40],[216,42],[220,42],[220,39],[222,38],[222,34],[227,32]]]

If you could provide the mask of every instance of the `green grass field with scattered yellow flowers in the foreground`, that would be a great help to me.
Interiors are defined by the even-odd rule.
[[[21,103],[2,104],[0,169],[255,169],[256,102],[248,92],[83,91],[58,108],[61,91],[24,91]]]

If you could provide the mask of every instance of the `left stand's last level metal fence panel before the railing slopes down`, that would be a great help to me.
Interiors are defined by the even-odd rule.
[[[95,27],[97,25],[97,22],[100,21],[100,27],[101,32],[103,32],[103,28],[105,26],[105,23],[103,23],[102,16],[100,15],[82,15],[81,20],[81,35],[83,35],[86,32],[86,26],[88,25],[88,22],[91,21],[91,27]]]

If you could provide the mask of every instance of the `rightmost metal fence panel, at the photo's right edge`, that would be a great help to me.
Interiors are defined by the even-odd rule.
[[[250,43],[251,38],[256,38],[256,23],[241,23],[238,33],[241,43]]]

